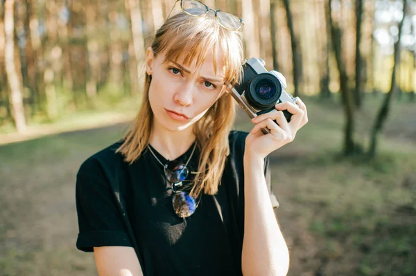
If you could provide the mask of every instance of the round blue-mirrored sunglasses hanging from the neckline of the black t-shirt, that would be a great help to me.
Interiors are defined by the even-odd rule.
[[[165,178],[169,183],[171,183],[171,189],[173,192],[172,206],[175,214],[177,214],[177,217],[181,217],[182,219],[190,217],[196,210],[196,201],[189,193],[178,189],[183,186],[182,181],[184,181],[189,174],[187,165],[196,149],[196,142],[193,145],[191,156],[189,156],[186,164],[183,164],[179,160],[167,160],[166,164],[163,164],[150,148],[150,145],[148,145],[148,149],[156,158],[157,162],[164,167]]]

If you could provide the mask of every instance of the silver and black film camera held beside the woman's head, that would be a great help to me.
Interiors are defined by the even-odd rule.
[[[293,102],[293,96],[286,93],[286,81],[273,71],[264,68],[263,59],[252,57],[245,59],[243,64],[243,79],[234,86],[229,84],[229,91],[232,97],[239,103],[240,107],[254,118],[263,113],[275,110],[275,104],[279,102]],[[283,111],[288,122],[292,114],[287,110]],[[270,133],[270,129],[261,129],[263,134]]]

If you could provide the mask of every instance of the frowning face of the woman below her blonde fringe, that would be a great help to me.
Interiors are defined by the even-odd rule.
[[[146,71],[152,75],[149,88],[150,107],[155,124],[170,131],[181,131],[197,122],[222,95],[225,66],[219,55],[214,71],[212,51],[196,67],[196,61],[184,65],[184,55],[177,62],[166,60],[165,53],[146,52]],[[182,115],[178,115],[182,114]]]

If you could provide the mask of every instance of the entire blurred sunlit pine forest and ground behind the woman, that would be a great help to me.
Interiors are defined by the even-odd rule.
[[[246,57],[308,107],[270,156],[289,275],[416,275],[415,1],[205,3],[243,18]],[[0,1],[0,275],[96,275],[75,248],[76,172],[135,116],[174,4]]]

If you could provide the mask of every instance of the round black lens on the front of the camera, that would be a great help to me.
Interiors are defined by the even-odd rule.
[[[245,97],[255,109],[273,107],[281,95],[281,84],[275,75],[261,73],[250,80]]]

